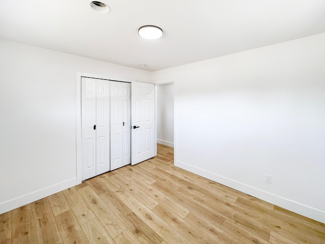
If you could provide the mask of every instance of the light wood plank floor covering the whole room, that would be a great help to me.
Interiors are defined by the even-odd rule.
[[[173,166],[173,148],[0,215],[0,243],[325,243],[325,224]]]

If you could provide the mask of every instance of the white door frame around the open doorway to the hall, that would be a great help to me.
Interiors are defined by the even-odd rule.
[[[152,83],[154,84],[154,120],[155,120],[155,132],[154,132],[154,139],[155,139],[155,155],[157,155],[157,101],[158,101],[158,96],[157,96],[157,85],[161,84],[168,84],[168,83],[174,83],[174,165],[177,166],[177,102],[175,101],[175,83],[177,82],[177,78],[167,78],[167,79],[161,79],[161,80],[154,80]]]

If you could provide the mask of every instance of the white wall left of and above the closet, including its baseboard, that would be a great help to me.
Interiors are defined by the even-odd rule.
[[[151,73],[0,39],[0,214],[76,185],[76,71]]]

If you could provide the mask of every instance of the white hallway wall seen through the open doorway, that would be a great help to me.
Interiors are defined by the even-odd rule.
[[[156,85],[157,142],[174,147],[174,83]]]

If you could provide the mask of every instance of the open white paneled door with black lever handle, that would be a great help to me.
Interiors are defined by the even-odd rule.
[[[131,164],[155,156],[154,150],[154,84],[131,83]]]

